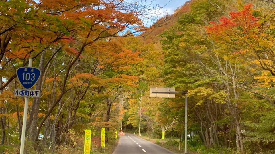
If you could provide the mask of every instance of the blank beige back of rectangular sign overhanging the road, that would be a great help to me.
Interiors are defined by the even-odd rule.
[[[175,98],[176,97],[175,88],[169,87],[150,87],[150,97],[160,97],[160,98]]]

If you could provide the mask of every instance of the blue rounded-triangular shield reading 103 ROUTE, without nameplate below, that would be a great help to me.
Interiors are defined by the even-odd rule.
[[[20,67],[16,71],[17,78],[25,89],[32,88],[38,81],[40,74],[40,70],[34,67]]]

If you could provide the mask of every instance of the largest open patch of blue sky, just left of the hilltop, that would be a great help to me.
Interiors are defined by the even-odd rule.
[[[170,1],[170,2],[169,2]],[[160,6],[164,6],[167,4],[162,11],[167,11],[168,14],[174,13],[174,10],[177,9],[179,6],[183,5],[186,1],[189,0],[155,0],[154,4],[159,4]]]

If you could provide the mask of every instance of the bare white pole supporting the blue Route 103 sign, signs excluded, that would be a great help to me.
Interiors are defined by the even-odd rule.
[[[29,67],[32,67],[32,58],[29,58]],[[28,106],[29,106],[29,97],[25,97],[24,116],[23,116],[22,134],[21,134],[21,145],[20,145],[20,154],[24,154],[24,145],[25,145],[25,134],[26,134],[26,125],[27,125]]]

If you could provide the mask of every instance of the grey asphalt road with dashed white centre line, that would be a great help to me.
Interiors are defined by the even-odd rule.
[[[175,154],[150,141],[141,139],[133,134],[120,136],[119,143],[113,154]]]

